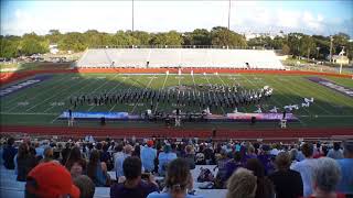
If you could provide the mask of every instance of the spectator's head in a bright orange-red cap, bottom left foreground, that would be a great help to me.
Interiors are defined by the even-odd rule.
[[[69,173],[57,163],[42,163],[26,178],[24,197],[79,198],[79,189],[73,184]]]

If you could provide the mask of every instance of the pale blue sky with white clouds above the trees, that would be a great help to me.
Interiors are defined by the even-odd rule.
[[[148,32],[192,31],[227,26],[227,0],[136,0],[135,29]],[[232,0],[231,29],[237,32],[303,32],[353,37],[353,1]],[[49,30],[114,33],[131,29],[131,1],[1,0],[1,34]]]

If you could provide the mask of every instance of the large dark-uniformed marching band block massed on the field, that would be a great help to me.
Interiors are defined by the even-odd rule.
[[[238,85],[199,85],[175,86],[164,89],[120,89],[116,92],[81,94],[69,98],[69,103],[77,106],[107,106],[131,103],[149,103],[151,109],[157,103],[168,103],[176,107],[199,106],[200,108],[237,108],[247,105],[258,105],[272,95],[272,88],[265,86],[261,89],[245,89]]]

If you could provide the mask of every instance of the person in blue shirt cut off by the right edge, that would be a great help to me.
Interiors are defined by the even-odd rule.
[[[342,173],[336,190],[353,197],[353,141],[344,142],[343,155],[344,158],[336,161]]]

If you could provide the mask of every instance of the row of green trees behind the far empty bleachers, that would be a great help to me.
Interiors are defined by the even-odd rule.
[[[114,34],[88,30],[84,33],[51,30],[46,35],[28,33],[22,36],[1,35],[0,57],[11,58],[21,55],[42,54],[49,52],[50,44],[57,44],[61,51],[82,52],[87,47],[113,45],[216,45],[238,48],[272,48],[282,54],[324,59],[330,55],[331,40],[332,54],[345,47],[346,55],[352,59],[353,42],[344,33],[332,36],[307,35],[303,33],[289,33],[281,36],[268,35],[246,40],[245,35],[229,31],[224,26],[215,26],[211,31],[195,29],[192,32],[180,33],[176,31],[148,33],[145,31],[118,31]]]

